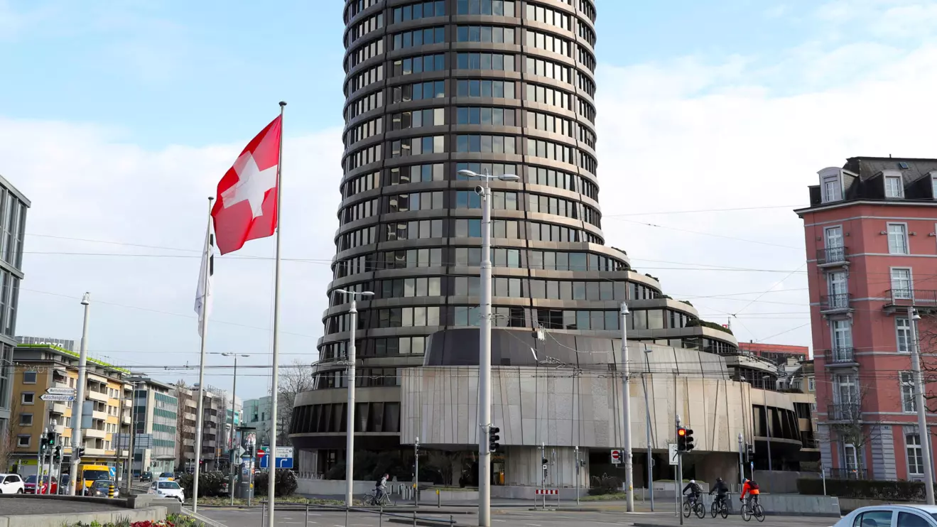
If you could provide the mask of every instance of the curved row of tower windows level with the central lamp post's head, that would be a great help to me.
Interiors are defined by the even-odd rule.
[[[479,174],[487,172],[496,176],[517,173],[517,167],[515,165],[503,163],[458,163],[455,169],[471,170]],[[394,167],[388,170],[388,175],[390,176],[390,181],[387,184],[391,185],[432,181],[439,182],[445,180],[444,165],[442,163]],[[468,178],[456,175],[454,179],[467,180]],[[596,184],[589,182],[582,176],[553,168],[527,167],[527,181],[530,184],[542,184],[578,192],[592,199],[598,199],[599,197],[599,189]],[[349,198],[350,196],[378,188],[379,186],[379,172],[364,174],[363,176],[354,178],[350,182],[346,182],[343,195],[345,198]]]

